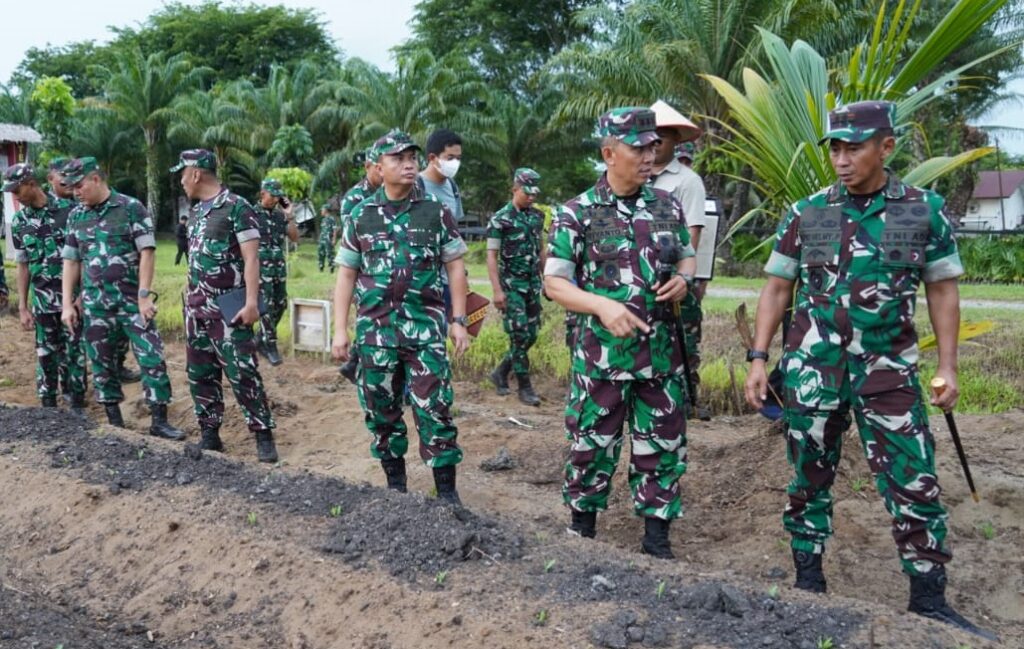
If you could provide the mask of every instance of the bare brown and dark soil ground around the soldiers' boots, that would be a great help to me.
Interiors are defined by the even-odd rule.
[[[411,492],[381,488],[354,389],[331,365],[261,366],[282,456],[268,467],[230,396],[223,456],[145,436],[138,385],[126,389],[130,430],[20,407],[36,402],[32,339],[0,320],[0,648],[987,646],[903,612],[906,579],[855,433],[836,486],[830,594],[817,597],[788,587],[788,468],[758,417],[690,424],[679,559],[662,562],[638,552],[625,472],[598,539],[565,534],[564,386],[541,382],[530,408],[457,383],[467,507],[456,510],[429,496],[415,453]],[[180,343],[168,362],[171,419],[194,443]],[[88,415],[102,420],[95,404]],[[949,597],[1021,647],[1024,413],[958,423],[982,502],[934,420]]]

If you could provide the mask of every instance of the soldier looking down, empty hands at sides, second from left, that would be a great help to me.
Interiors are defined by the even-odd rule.
[[[95,158],[73,160],[61,175],[74,187],[79,205],[68,217],[60,319],[69,331],[78,326],[74,295],[81,280],[85,345],[96,400],[103,404],[112,425],[124,426],[117,350],[119,340],[128,337],[142,369],[143,391],[153,415],[150,434],[184,439],[184,433],[167,422],[171,381],[154,319],[157,295],[150,290],[157,248],[153,220],[136,199],[106,184]]]

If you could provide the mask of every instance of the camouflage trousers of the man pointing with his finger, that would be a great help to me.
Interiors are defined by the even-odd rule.
[[[572,440],[562,497],[578,512],[607,509],[611,478],[629,418],[633,509],[672,520],[682,514],[679,478],[686,472],[683,377],[604,381],[572,375],[565,429]]]

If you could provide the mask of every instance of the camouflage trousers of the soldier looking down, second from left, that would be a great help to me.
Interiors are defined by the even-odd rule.
[[[134,305],[132,305],[134,306]],[[137,307],[135,307],[137,308]],[[156,320],[141,326],[138,313],[85,310],[85,349],[92,362],[92,382],[96,400],[100,403],[120,403],[121,361],[118,350],[122,339],[131,343],[135,359],[142,371],[142,391],[150,403],[168,403],[171,400],[171,380],[164,363],[164,343],[160,340]]]

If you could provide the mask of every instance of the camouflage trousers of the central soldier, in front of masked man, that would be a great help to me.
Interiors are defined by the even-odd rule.
[[[359,345],[359,404],[374,436],[374,458],[401,458],[409,448],[402,420],[402,390],[409,386],[413,419],[420,434],[420,458],[431,468],[462,462],[452,422],[452,369],[444,343],[423,347]]]

